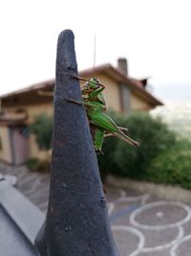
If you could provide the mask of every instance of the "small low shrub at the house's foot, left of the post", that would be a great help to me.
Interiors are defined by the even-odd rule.
[[[50,169],[50,163],[48,161],[35,157],[29,158],[25,164],[31,171],[49,171]]]

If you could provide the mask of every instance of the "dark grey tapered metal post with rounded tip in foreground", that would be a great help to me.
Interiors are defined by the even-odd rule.
[[[86,113],[74,34],[59,35],[54,96],[53,163],[46,221],[36,238],[41,256],[117,256]]]

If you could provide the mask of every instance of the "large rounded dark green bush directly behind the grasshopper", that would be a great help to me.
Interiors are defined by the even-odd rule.
[[[101,173],[106,171],[140,179],[145,176],[145,170],[152,159],[176,142],[175,134],[148,113],[116,116],[114,119],[118,126],[129,128],[128,135],[137,140],[140,146],[134,148],[116,138],[105,139],[105,154],[98,156]]]

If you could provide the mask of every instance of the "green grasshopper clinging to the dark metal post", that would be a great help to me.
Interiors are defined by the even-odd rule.
[[[102,152],[103,140],[107,136],[116,136],[130,145],[138,146],[137,141],[129,138],[123,132],[123,130],[127,131],[127,128],[117,127],[113,119],[106,114],[107,107],[102,94],[105,85],[96,78],[90,80],[74,78],[86,81],[81,89],[83,102],[75,101],[74,99],[69,99],[68,101],[85,106],[96,152]]]

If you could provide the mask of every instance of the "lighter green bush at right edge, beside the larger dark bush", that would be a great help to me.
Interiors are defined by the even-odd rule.
[[[191,143],[180,141],[159,153],[147,168],[145,179],[191,189]]]

